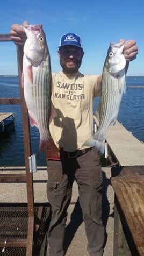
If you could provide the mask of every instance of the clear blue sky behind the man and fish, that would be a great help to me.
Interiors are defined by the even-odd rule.
[[[127,75],[144,75],[144,2],[122,1],[54,1],[7,0],[0,9],[0,33],[9,33],[12,24],[42,24],[51,53],[52,72],[61,70],[57,47],[67,32],[81,35],[85,55],[80,71],[102,74],[109,42],[120,38],[135,39],[139,47],[136,60],[129,65]],[[17,75],[16,46],[0,43],[0,75]]]

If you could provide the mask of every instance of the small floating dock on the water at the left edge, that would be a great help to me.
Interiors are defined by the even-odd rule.
[[[0,132],[8,132],[15,127],[15,113],[0,112]]]

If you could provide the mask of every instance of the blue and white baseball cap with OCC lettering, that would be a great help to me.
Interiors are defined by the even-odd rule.
[[[78,48],[83,49],[80,36],[74,33],[67,33],[62,35],[62,37],[60,38],[59,48],[65,45],[74,45]]]

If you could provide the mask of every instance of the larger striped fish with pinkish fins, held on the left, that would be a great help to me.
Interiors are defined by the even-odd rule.
[[[30,117],[30,125],[40,133],[40,152],[46,150],[51,139],[49,123],[56,116],[51,102],[51,59],[42,24],[24,26],[27,39],[24,44],[22,87]]]

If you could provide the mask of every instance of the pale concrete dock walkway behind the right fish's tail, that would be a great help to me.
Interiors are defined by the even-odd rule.
[[[144,144],[119,122],[109,126],[106,141],[121,166],[144,165]]]

